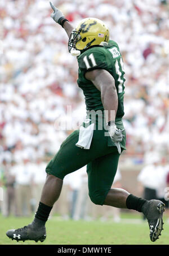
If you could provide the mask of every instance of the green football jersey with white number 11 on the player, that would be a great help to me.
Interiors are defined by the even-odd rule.
[[[101,102],[101,93],[95,85],[85,79],[85,73],[91,70],[102,69],[108,71],[115,80],[118,93],[118,110],[116,118],[124,115],[124,70],[122,55],[116,42],[109,40],[107,46],[96,46],[84,51],[78,57],[78,86],[83,90],[87,110],[104,110]]]

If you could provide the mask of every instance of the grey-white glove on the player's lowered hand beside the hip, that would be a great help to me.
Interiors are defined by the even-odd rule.
[[[122,132],[124,131],[124,129],[118,129],[114,121],[111,121],[109,125],[107,124],[107,129],[110,138],[112,138],[112,141],[114,142],[115,146],[117,146],[118,153],[121,154],[121,146],[119,142],[123,140],[124,135],[122,134]]]

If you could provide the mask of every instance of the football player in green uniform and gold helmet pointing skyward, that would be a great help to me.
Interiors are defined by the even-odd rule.
[[[54,10],[52,19],[68,34],[69,53],[77,57],[77,83],[85,96],[87,116],[79,131],[66,138],[48,163],[46,183],[33,222],[11,229],[6,235],[17,241],[44,241],[45,224],[60,196],[64,177],[87,164],[91,201],[143,212],[148,219],[150,240],[154,242],[163,229],[164,203],[146,201],[124,189],[111,189],[119,156],[126,149],[122,122],[125,79],[118,44],[109,39],[109,29],[103,21],[86,18],[74,29],[63,13],[51,2],[50,5]]]

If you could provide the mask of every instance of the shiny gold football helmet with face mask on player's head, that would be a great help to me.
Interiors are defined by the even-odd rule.
[[[69,37],[68,49],[86,50],[90,46],[107,45],[109,29],[103,21],[96,18],[83,19],[72,31]]]

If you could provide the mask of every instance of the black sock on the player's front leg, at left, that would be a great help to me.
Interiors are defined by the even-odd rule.
[[[48,216],[52,210],[51,206],[45,205],[44,203],[39,202],[38,210],[35,214],[35,218],[33,222],[36,223],[45,223],[47,222]]]

